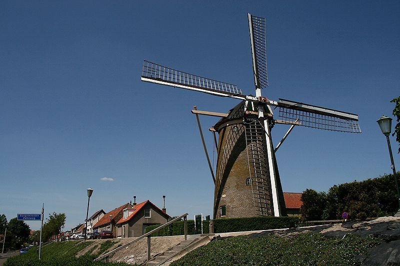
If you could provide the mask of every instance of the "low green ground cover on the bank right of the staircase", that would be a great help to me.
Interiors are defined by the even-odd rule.
[[[357,255],[380,241],[347,235],[343,240],[321,234],[296,237],[266,236],[257,239],[232,237],[196,249],[171,266],[195,265],[358,265]]]

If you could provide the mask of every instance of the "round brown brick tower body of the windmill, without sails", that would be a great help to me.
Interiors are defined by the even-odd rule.
[[[257,118],[257,106],[240,102],[215,124],[219,134],[215,173],[214,218],[284,216],[285,206],[275,163],[275,184],[279,215],[272,207],[270,173],[264,130]],[[267,108],[264,117],[272,118]],[[268,122],[271,120],[268,119]],[[274,155],[273,155],[274,157]],[[274,160],[275,161],[275,160]]]

